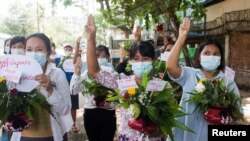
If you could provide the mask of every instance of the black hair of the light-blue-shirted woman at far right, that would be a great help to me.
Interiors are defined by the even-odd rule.
[[[196,67],[196,68],[202,68],[202,67],[201,67],[201,64],[200,64],[199,58],[200,58],[201,52],[203,51],[203,49],[204,49],[205,46],[207,46],[207,45],[215,45],[215,46],[219,49],[220,54],[221,54],[221,63],[220,63],[220,65],[218,66],[217,70],[224,70],[224,68],[225,68],[225,54],[224,54],[224,49],[223,49],[222,45],[220,44],[219,40],[216,39],[216,38],[209,38],[209,39],[203,41],[203,42],[199,45],[199,47],[198,47],[198,49],[197,49],[197,52],[196,52],[195,62],[194,62],[194,63],[195,63],[195,64],[194,64],[195,67]]]

